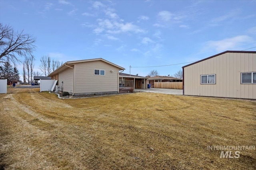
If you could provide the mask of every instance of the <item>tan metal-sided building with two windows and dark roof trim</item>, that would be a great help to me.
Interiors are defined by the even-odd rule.
[[[256,51],[225,51],[182,69],[183,95],[256,99]]]

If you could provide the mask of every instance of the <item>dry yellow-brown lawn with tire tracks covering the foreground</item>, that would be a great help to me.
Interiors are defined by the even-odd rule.
[[[0,94],[0,169],[256,169],[256,102],[139,92]],[[232,150],[232,156],[234,156]]]

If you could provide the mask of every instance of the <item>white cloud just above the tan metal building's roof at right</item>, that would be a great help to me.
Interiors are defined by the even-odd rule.
[[[253,39],[247,35],[238,35],[232,38],[226,38],[219,41],[208,41],[203,51],[214,49],[218,52],[226,50],[243,50],[244,45],[252,43]]]

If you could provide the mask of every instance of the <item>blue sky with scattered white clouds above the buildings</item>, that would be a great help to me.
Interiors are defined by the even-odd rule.
[[[256,0],[1,0],[0,22],[36,37],[34,71],[49,55],[168,76],[227,50],[256,51]]]

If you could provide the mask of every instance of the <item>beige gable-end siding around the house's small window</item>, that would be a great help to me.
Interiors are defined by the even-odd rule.
[[[94,69],[105,70],[105,75],[94,75]],[[75,94],[119,91],[118,72],[117,67],[104,61],[76,63]]]

